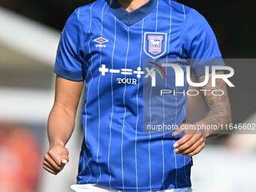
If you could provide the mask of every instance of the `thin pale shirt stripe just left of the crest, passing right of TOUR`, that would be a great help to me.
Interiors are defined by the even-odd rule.
[[[142,67],[142,49],[143,49],[143,28],[144,28],[144,19],[142,20],[142,43],[141,43],[141,51],[139,54],[139,67]],[[139,191],[138,188],[138,166],[137,166],[137,132],[138,132],[138,122],[139,122],[139,84],[140,78],[137,85],[137,93],[136,93],[136,102],[137,102],[137,119],[136,119],[136,136],[135,136],[135,172],[136,172],[136,190]]]

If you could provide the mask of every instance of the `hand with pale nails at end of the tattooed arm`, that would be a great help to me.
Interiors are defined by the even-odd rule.
[[[182,126],[184,127],[188,125],[194,126],[194,124],[184,123],[178,127],[178,130],[175,130],[175,132],[172,133],[172,136],[178,136],[179,134],[184,133],[184,136],[173,145],[173,151],[176,154],[194,156],[200,153],[205,147],[207,134],[204,131],[181,129]]]

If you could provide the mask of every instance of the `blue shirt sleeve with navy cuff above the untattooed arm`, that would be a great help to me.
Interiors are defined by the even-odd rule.
[[[79,11],[76,10],[67,20],[59,40],[54,72],[71,81],[84,81],[84,44]]]

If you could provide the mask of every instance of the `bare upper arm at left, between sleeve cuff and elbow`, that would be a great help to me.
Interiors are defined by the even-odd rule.
[[[75,114],[83,85],[84,81],[70,81],[57,75],[54,106]]]

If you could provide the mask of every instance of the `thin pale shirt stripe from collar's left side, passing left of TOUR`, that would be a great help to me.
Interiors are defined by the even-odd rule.
[[[114,69],[114,49],[115,49],[115,43],[117,38],[117,18],[114,17],[114,47],[112,51],[112,57],[111,57],[111,69]],[[111,111],[111,120],[109,124],[109,145],[108,145],[108,172],[109,172],[109,180],[108,184],[111,187],[111,170],[110,170],[110,146],[111,146],[111,126],[112,126],[112,120],[113,120],[113,114],[114,114],[114,93],[113,93],[113,73],[111,74],[111,98],[112,98],[112,111]]]

